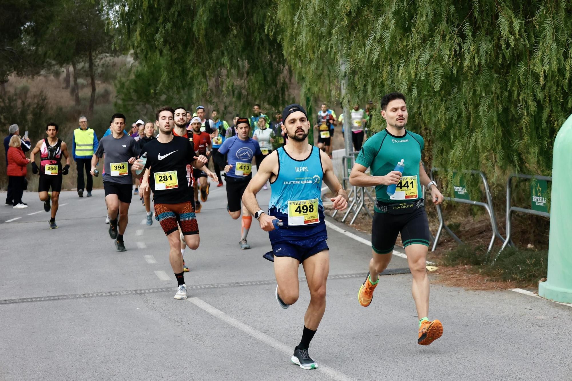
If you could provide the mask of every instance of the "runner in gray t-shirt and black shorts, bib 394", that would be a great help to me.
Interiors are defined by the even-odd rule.
[[[105,203],[108,207],[109,236],[115,240],[117,251],[125,251],[123,235],[128,223],[133,177],[131,164],[139,152],[137,142],[123,132],[124,114],[114,114],[111,118],[111,134],[100,140],[92,157],[92,174],[101,157],[105,155]]]

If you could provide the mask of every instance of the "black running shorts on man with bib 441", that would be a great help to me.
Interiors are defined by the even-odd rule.
[[[413,244],[429,246],[429,223],[424,207],[403,215],[374,211],[371,223],[371,248],[378,254],[391,253],[401,233],[403,247]]]

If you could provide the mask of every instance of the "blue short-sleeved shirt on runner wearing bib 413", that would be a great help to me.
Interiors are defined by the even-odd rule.
[[[240,140],[236,135],[226,139],[223,145],[220,146],[219,152],[223,155],[228,154],[228,164],[232,165],[232,167],[227,172],[227,176],[235,178],[250,176],[252,173],[252,158],[262,154],[260,145],[256,140],[253,138]],[[248,174],[246,174],[247,172]]]

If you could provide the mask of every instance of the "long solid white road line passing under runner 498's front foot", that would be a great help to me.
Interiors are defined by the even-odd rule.
[[[279,350],[280,352],[283,352],[288,356],[292,356],[293,348],[288,347],[286,344],[281,343],[278,340],[273,339],[270,336],[255,330],[255,328],[252,328],[251,326],[247,326],[247,324],[244,324],[243,322],[240,322],[235,318],[231,318],[231,316],[228,316],[223,311],[220,311],[220,309],[217,309],[212,305],[206,303],[206,301],[198,299],[198,297],[189,297],[187,300],[190,301],[190,303],[196,305],[198,308],[201,308],[204,311],[210,313],[210,315],[213,315],[216,318],[223,320],[225,323],[228,323],[231,326],[245,332],[245,334],[251,335],[253,338],[260,340],[261,342],[271,346],[275,350]],[[328,375],[330,378],[334,380],[355,381],[355,379],[348,377],[328,366],[325,366],[319,361],[317,361],[317,363],[318,363],[317,371],[320,371],[323,374]]]

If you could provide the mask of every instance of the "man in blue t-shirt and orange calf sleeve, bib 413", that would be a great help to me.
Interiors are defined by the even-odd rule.
[[[236,220],[243,212],[241,225],[240,248],[249,249],[247,242],[248,231],[252,224],[252,215],[248,209],[240,204],[244,189],[252,178],[252,159],[262,160],[260,145],[250,137],[251,125],[248,118],[239,118],[236,121],[236,135],[227,138],[215,155],[215,162],[224,168],[227,181],[227,211]],[[225,155],[227,158],[225,158]]]

